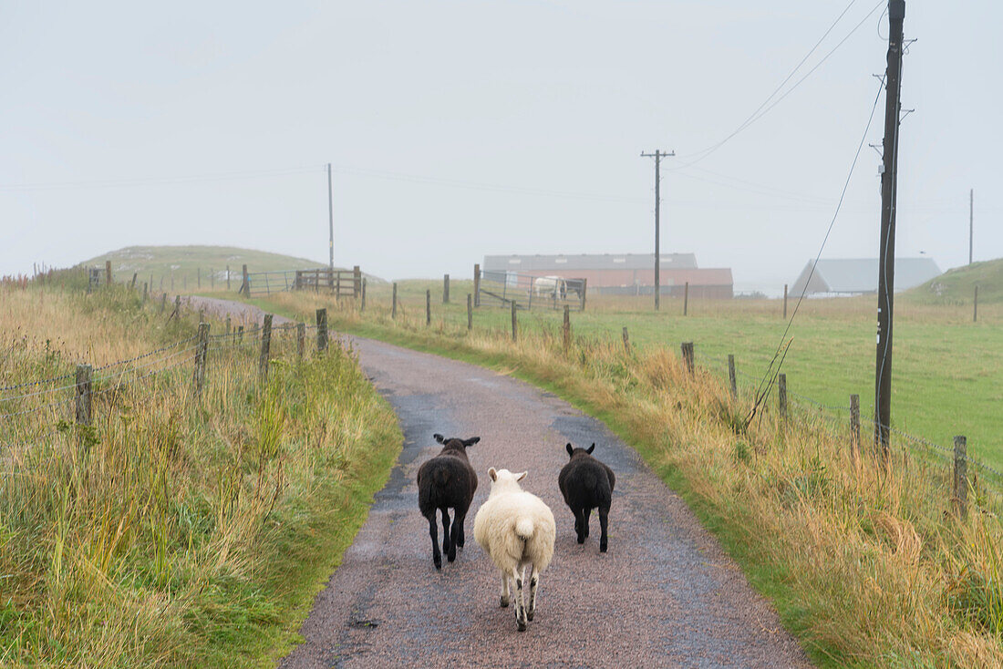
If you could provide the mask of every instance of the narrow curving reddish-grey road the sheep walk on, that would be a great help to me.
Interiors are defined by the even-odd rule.
[[[392,404],[404,449],[344,561],[318,594],[282,667],[807,667],[775,611],[685,503],[601,422],[551,393],[474,365],[348,338]],[[415,475],[434,432],[479,435],[480,481],[466,547],[436,572]],[[617,475],[609,552],[598,521],[585,545],[558,489],[565,444],[597,443]],[[554,511],[554,563],[535,620],[517,632],[500,580],[472,541],[487,468],[529,470],[526,489]],[[441,529],[439,534],[441,535]]]

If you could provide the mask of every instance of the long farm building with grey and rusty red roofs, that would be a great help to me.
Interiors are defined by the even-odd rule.
[[[731,298],[734,282],[729,268],[701,269],[691,253],[663,254],[660,282],[663,295],[682,296],[689,283],[691,297]],[[484,256],[485,277],[561,277],[586,279],[590,294],[650,295],[655,288],[654,254],[580,254],[569,256]]]

